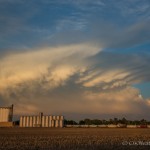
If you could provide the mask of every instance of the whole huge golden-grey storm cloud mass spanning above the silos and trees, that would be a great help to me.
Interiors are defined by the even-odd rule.
[[[16,114],[78,111],[140,118],[149,113],[149,100],[132,84],[150,80],[149,58],[102,52],[92,43],[6,54],[0,60],[0,99],[14,103]]]

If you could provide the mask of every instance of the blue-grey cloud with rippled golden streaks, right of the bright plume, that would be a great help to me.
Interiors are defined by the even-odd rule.
[[[77,81],[84,87],[97,87],[101,91],[111,91],[150,81],[149,54],[104,51],[90,58],[89,61],[95,63]]]

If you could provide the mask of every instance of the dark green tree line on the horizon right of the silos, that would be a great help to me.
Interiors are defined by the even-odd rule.
[[[127,125],[148,125],[150,124],[150,121],[147,121],[145,119],[141,119],[141,120],[127,120],[126,118],[122,118],[122,119],[118,119],[118,118],[114,118],[114,119],[109,119],[109,120],[105,120],[105,119],[84,119],[84,120],[80,120],[79,122],[74,121],[74,120],[64,120],[64,124],[65,125],[108,125],[108,124],[127,124]]]

